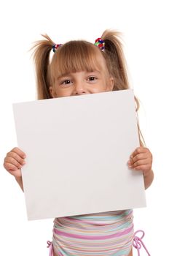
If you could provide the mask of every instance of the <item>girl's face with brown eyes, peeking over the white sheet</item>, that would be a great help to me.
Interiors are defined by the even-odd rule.
[[[52,97],[68,97],[112,91],[114,79],[109,76],[103,56],[100,58],[102,66],[99,70],[95,68],[92,72],[68,72],[58,77],[55,80],[55,85],[50,87]]]

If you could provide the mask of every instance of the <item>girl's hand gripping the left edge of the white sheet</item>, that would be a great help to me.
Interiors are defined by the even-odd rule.
[[[20,169],[25,165],[24,159],[25,153],[20,148],[13,148],[4,158],[4,168],[15,178],[20,178],[22,176]]]

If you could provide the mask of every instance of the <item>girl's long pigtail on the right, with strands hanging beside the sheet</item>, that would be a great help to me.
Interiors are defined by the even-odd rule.
[[[121,34],[117,31],[106,30],[103,32],[101,39],[105,42],[105,50],[103,56],[106,59],[107,67],[110,75],[114,78],[114,91],[129,89],[129,81],[127,75],[127,64],[125,55],[122,50]],[[140,108],[139,101],[135,97],[135,111],[137,115],[138,136],[140,145],[145,146],[144,137],[138,121],[138,109]]]

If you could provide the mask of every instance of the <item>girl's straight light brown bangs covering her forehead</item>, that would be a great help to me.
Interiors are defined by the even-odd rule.
[[[58,79],[71,72],[103,69],[101,51],[90,42],[70,41],[60,47],[51,63],[52,78]]]

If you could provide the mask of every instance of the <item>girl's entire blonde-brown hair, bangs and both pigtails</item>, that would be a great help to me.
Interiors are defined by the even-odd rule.
[[[69,72],[94,71],[95,67],[101,69],[99,54],[103,55],[109,75],[114,78],[113,91],[130,89],[127,65],[120,41],[120,33],[106,30],[101,39],[105,42],[105,49],[101,51],[91,42],[74,40],[66,42],[50,58],[52,46],[55,42],[42,35],[43,40],[34,44],[34,63],[36,68],[36,86],[38,99],[50,99],[50,86],[55,84],[58,77]],[[99,53],[99,54],[98,54]],[[136,112],[139,109],[138,99],[135,97]],[[145,145],[143,135],[138,124],[138,135],[141,146]]]

